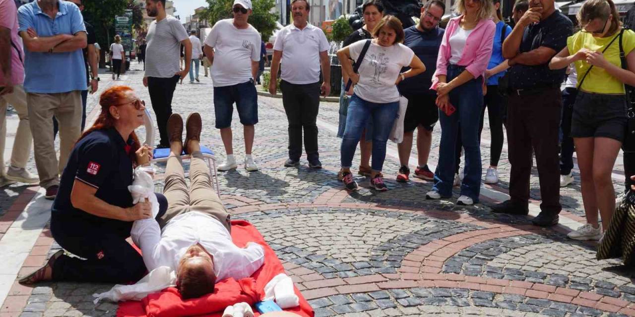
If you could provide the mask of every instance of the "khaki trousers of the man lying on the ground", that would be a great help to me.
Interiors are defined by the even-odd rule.
[[[197,211],[208,214],[222,223],[231,232],[230,216],[220,197],[211,187],[210,169],[200,151],[192,153],[190,162],[190,189],[187,189],[181,158],[170,153],[165,169],[163,195],[168,199],[168,210],[159,219],[163,228],[173,217],[185,212]]]

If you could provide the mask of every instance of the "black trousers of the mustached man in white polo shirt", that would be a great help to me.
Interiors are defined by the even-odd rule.
[[[302,156],[302,131],[307,160],[319,159],[318,119],[320,84],[291,84],[281,81],[282,101],[289,122],[289,159]]]

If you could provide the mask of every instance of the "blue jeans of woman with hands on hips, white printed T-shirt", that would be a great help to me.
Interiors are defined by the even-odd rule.
[[[392,124],[397,118],[398,112],[399,101],[373,103],[353,94],[349,99],[346,127],[340,149],[342,167],[351,167],[361,133],[370,119],[373,122],[373,151],[371,153],[373,162],[371,167],[373,171],[381,172],[386,157],[386,142],[391,134]],[[366,138],[368,138],[368,135]]]

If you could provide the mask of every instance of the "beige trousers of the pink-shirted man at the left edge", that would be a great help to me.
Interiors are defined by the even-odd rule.
[[[0,175],[4,170],[4,142],[6,139],[6,107],[13,106],[18,113],[18,130],[13,140],[11,151],[11,166],[23,169],[29,160],[33,138],[29,127],[29,110],[27,109],[27,93],[22,85],[13,86],[13,93],[0,96]]]

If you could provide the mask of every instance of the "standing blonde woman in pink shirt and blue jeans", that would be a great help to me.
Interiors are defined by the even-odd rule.
[[[450,198],[454,181],[458,123],[465,150],[465,177],[458,204],[478,202],[481,188],[481,149],[478,130],[483,108],[483,74],[491,57],[496,25],[491,20],[491,0],[459,0],[446,27],[432,87],[437,91],[441,145],[434,186],[428,199]]]

